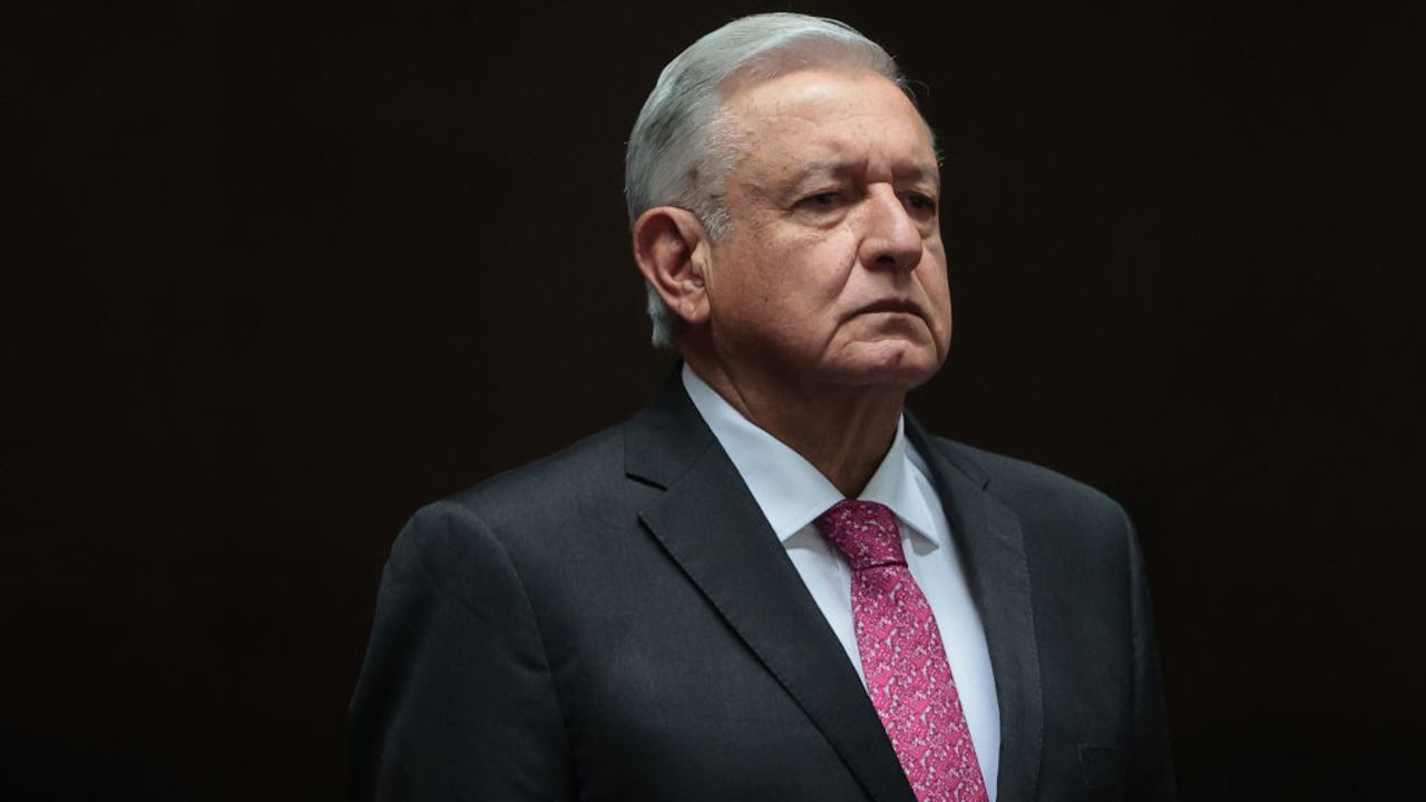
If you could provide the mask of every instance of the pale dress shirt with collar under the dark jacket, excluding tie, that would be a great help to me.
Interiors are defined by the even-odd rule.
[[[687,364],[683,365],[683,387],[743,477],[866,685],[851,618],[851,568],[813,524],[843,499],[841,492],[811,462],[744,418]],[[858,498],[884,504],[897,517],[907,568],[935,615],[975,758],[985,775],[985,791],[994,802],[1000,775],[995,676],[985,629],[951,542],[951,527],[927,475],[925,461],[906,440],[903,420],[897,422],[891,448]]]

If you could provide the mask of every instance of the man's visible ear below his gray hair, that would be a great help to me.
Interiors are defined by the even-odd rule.
[[[709,317],[707,230],[686,208],[659,205],[633,224],[633,258],[665,304],[690,325]]]

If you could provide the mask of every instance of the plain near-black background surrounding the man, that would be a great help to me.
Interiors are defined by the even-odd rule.
[[[769,6],[30,6],[0,796],[338,799],[404,519],[667,374],[622,144]],[[1420,773],[1423,13],[1339,6],[794,6],[930,86],[955,344],[911,405],[1134,514],[1186,799]]]

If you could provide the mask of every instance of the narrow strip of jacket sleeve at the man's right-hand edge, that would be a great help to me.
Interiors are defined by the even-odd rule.
[[[1128,518],[1125,518],[1128,521]],[[1168,802],[1174,799],[1174,761],[1168,741],[1164,681],[1159,675],[1158,639],[1148,578],[1134,525],[1129,538],[1129,604],[1134,648],[1134,743],[1129,763],[1129,799]]]

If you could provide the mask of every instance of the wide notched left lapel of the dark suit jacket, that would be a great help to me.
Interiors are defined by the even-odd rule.
[[[877,802],[914,802],[861,681],[682,382],[626,434],[630,477],[665,488],[640,518]]]

